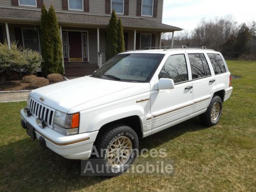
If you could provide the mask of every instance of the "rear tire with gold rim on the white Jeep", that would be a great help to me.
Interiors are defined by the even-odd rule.
[[[203,125],[214,126],[219,122],[221,118],[221,114],[222,114],[222,100],[220,96],[215,95],[211,99],[206,112],[200,115],[199,117]]]

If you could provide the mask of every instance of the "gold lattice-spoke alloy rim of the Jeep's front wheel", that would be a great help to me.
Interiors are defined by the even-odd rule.
[[[132,153],[132,141],[129,137],[121,136],[116,138],[109,147],[107,159],[112,167],[124,165]]]

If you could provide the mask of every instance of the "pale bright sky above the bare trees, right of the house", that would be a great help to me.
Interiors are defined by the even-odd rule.
[[[163,23],[193,30],[202,18],[232,15],[237,22],[256,20],[255,0],[164,0]]]

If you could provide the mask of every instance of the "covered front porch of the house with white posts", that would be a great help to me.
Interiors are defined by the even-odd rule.
[[[56,14],[65,75],[92,74],[105,62],[105,36],[110,16]],[[162,32],[182,30],[142,18],[122,17],[122,23],[125,50],[160,47]],[[0,41],[8,42],[9,46],[14,41],[18,46],[40,52],[40,11],[0,8]]]

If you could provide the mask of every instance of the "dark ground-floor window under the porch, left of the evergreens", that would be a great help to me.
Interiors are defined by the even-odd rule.
[[[25,49],[40,51],[39,30],[22,29],[23,46]]]

